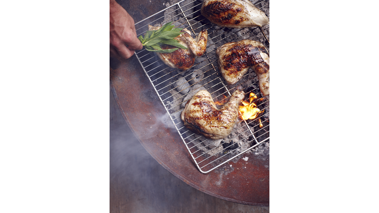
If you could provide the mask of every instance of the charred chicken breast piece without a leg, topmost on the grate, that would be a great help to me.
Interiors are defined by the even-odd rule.
[[[262,27],[269,23],[265,13],[249,0],[204,0],[201,14],[228,28]]]

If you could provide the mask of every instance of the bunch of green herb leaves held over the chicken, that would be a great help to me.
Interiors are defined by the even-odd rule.
[[[158,53],[172,53],[175,50],[182,48],[188,49],[179,43],[178,40],[175,40],[174,37],[181,35],[183,28],[174,28],[174,25],[171,25],[172,22],[169,22],[163,25],[158,30],[148,31],[145,34],[145,37],[139,36],[138,39],[141,41],[142,45],[149,51],[158,52]],[[172,49],[162,49],[163,44],[168,44],[176,46],[178,48]]]

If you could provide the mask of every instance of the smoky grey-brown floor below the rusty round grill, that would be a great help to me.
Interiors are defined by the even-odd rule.
[[[268,213],[269,208],[225,201],[176,178],[133,135],[110,91],[110,212]]]

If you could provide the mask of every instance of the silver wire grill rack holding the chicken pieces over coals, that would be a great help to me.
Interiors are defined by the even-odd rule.
[[[253,0],[253,4],[269,17],[269,0]],[[190,155],[201,173],[209,173],[246,151],[269,142],[269,97],[262,98],[258,79],[254,72],[247,72],[237,83],[228,85],[217,68],[216,48],[230,41],[252,39],[262,42],[269,51],[269,25],[256,28],[229,29],[210,23],[200,13],[201,1],[182,0],[135,24],[137,36],[148,30],[148,25],[158,26],[173,22],[177,27],[187,28],[195,37],[202,29],[208,31],[206,53],[196,58],[189,71],[172,69],[155,53],[145,49],[136,51],[136,56],[149,77],[162,105],[167,110],[176,130],[183,139]],[[187,129],[180,118],[192,95],[206,89],[214,101],[226,101],[235,89],[258,96],[256,105],[264,113],[254,120],[239,120],[233,132],[223,140],[206,139]],[[247,96],[245,100],[249,97]],[[263,127],[259,127],[261,120]]]

